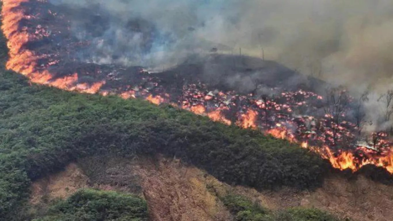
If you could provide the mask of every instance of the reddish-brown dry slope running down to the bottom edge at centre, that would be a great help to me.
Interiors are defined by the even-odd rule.
[[[152,220],[231,220],[226,208],[206,188],[206,178],[199,169],[162,159],[155,166],[141,161],[134,173],[141,177]]]

